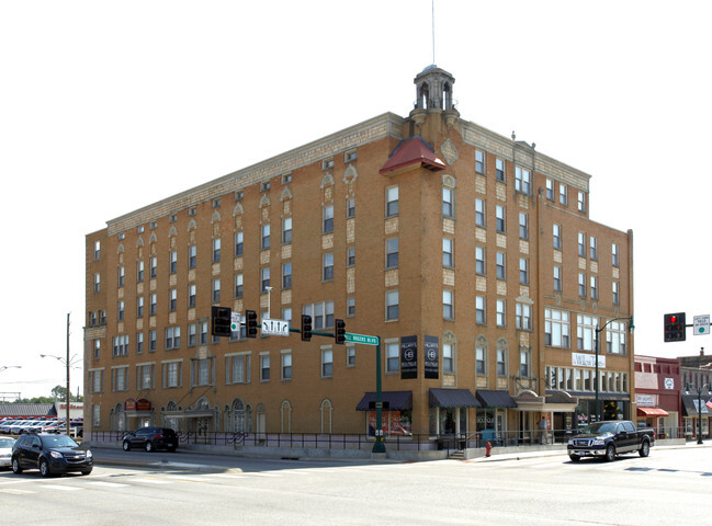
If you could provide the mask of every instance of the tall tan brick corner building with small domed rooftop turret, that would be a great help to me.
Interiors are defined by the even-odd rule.
[[[88,430],[373,432],[373,346],[214,339],[214,305],[381,336],[386,435],[586,422],[597,334],[601,412],[634,414],[632,232],[589,219],[586,173],[460,118],[449,72],[415,83],[406,117],[87,236]]]

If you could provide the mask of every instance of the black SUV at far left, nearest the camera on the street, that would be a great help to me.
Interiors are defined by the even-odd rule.
[[[94,466],[90,449],[82,449],[71,437],[45,433],[21,435],[12,446],[12,472],[38,469],[43,477],[79,471],[89,474]]]

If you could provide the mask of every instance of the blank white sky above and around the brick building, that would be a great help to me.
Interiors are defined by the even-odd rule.
[[[83,387],[86,235],[406,116],[433,62],[462,118],[590,174],[590,218],[633,230],[635,353],[712,354],[691,329],[663,341],[664,313],[712,310],[711,14],[689,0],[0,0],[0,401],[65,386],[67,315]]]

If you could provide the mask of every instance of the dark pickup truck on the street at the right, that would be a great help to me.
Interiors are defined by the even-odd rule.
[[[637,451],[641,457],[651,454],[655,442],[652,428],[635,428],[629,420],[609,420],[589,424],[568,441],[568,456],[577,462],[581,457],[603,457],[615,460],[615,455]]]

